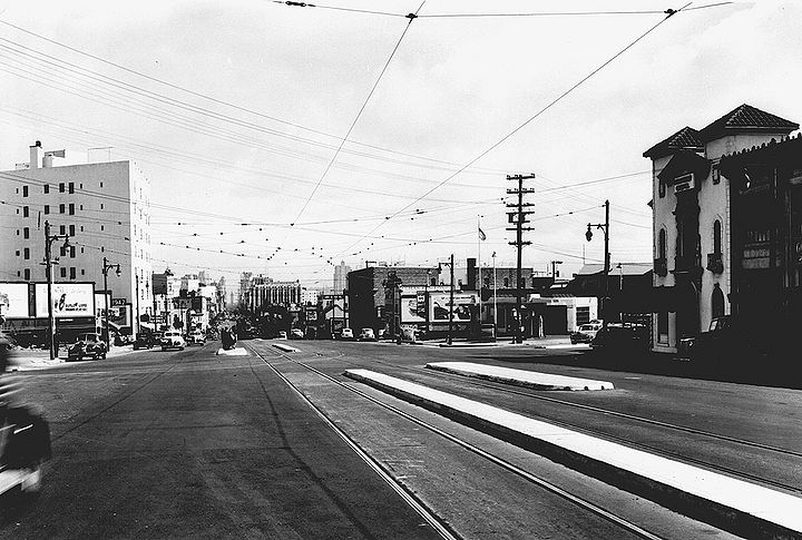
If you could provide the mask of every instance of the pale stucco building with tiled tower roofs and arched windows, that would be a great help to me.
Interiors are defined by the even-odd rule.
[[[742,263],[732,248],[737,192],[732,173],[722,174],[723,156],[795,129],[799,124],[742,105],[701,130],[684,127],[644,153],[653,169],[655,351],[676,352],[682,337],[732,312],[733,269]]]

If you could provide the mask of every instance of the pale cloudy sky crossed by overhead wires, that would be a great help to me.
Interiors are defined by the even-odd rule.
[[[136,160],[155,271],[514,266],[517,174],[526,267],[600,263],[606,199],[613,265],[648,263],[647,148],[742,104],[802,121],[802,6],[720,3],[0,2],[0,169]]]

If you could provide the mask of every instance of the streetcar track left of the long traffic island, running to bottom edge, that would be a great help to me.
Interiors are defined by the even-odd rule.
[[[395,480],[394,477],[392,477],[392,474],[390,474],[390,472],[387,471],[381,463],[379,463],[376,460],[374,460],[373,458],[371,458],[366,452],[364,452],[364,451],[358,445],[358,443],[356,443],[355,441],[353,441],[350,436],[348,436],[348,434],[345,434],[340,428],[338,428],[338,426],[334,424],[334,422],[332,422],[331,420],[329,420],[329,418],[325,415],[325,413],[324,413],[319,406],[316,406],[314,403],[312,403],[312,401],[311,401],[309,397],[306,397],[306,396],[303,394],[303,392],[301,392],[301,390],[297,389],[297,386],[295,386],[295,384],[293,384],[293,383],[292,383],[283,373],[281,373],[275,366],[273,366],[258,351],[256,351],[254,347],[251,347],[251,348],[252,348],[252,351],[254,352],[254,354],[256,354],[265,364],[270,365],[271,369],[272,369],[290,387],[292,387],[293,390],[295,390],[295,392],[309,404],[309,406],[312,408],[312,409],[319,414],[319,416],[321,416],[323,420],[325,420],[326,423],[327,423],[343,440],[345,440],[352,448],[354,448],[354,450],[356,450],[356,451],[360,453],[360,455],[363,456],[363,459],[369,460],[369,463],[372,463],[372,464],[374,464],[375,467],[378,467],[378,468],[381,470],[381,472],[382,472],[382,477],[389,477],[389,480],[392,481],[392,485],[397,488],[397,491],[400,489],[400,490],[402,490],[404,493],[407,493],[408,497],[405,497],[405,499],[412,498],[414,501],[417,501],[417,504],[413,507],[413,508],[415,508],[415,510],[418,510],[419,512],[421,512],[421,509],[419,508],[419,505],[420,505],[421,508],[423,508],[423,509],[426,508],[426,507],[422,505],[422,502],[419,501],[414,494],[412,494],[411,492],[409,492],[408,489],[407,489],[404,485],[402,485],[401,483],[399,483],[398,480]],[[594,513],[594,514],[597,516],[597,517],[600,517],[600,518],[603,518],[603,519],[605,519],[605,520],[607,520],[607,521],[609,521],[609,522],[612,522],[612,523],[614,523],[614,524],[616,524],[616,526],[618,526],[618,527],[622,527],[623,529],[632,532],[633,534],[636,534],[636,536],[638,536],[638,537],[640,537],[640,538],[646,538],[646,539],[649,539],[649,540],[661,540],[661,539],[662,539],[662,537],[659,537],[659,536],[657,536],[657,534],[654,534],[654,533],[647,531],[646,529],[643,529],[643,528],[638,527],[637,524],[635,524],[635,523],[626,520],[625,518],[622,518],[622,517],[619,517],[619,516],[616,516],[615,513],[613,513],[613,512],[610,512],[610,511],[608,511],[608,510],[605,510],[605,509],[603,509],[602,507],[598,507],[598,505],[594,504],[593,502],[590,502],[590,501],[588,501],[588,500],[585,500],[585,499],[583,499],[583,498],[580,498],[580,497],[578,497],[578,495],[576,495],[576,494],[573,494],[573,493],[570,493],[570,492],[568,492],[568,491],[559,488],[558,485],[551,483],[551,482],[548,482],[548,481],[546,481],[546,480],[544,480],[544,479],[541,479],[541,478],[538,478],[538,477],[534,475],[532,473],[530,473],[530,472],[528,472],[528,471],[526,471],[526,470],[524,470],[524,469],[521,469],[521,468],[519,468],[519,467],[517,467],[517,465],[515,465],[515,464],[512,464],[512,463],[510,463],[510,462],[508,462],[508,461],[506,461],[506,460],[503,460],[503,459],[501,459],[501,458],[498,458],[498,456],[496,456],[496,455],[492,455],[492,454],[490,454],[489,452],[487,452],[487,451],[485,451],[485,450],[482,450],[482,449],[480,449],[480,448],[478,448],[478,446],[476,446],[476,445],[473,445],[473,444],[471,444],[471,443],[469,443],[469,442],[467,442],[467,441],[464,441],[464,440],[462,440],[462,439],[460,439],[460,438],[458,438],[458,436],[456,436],[456,435],[452,435],[452,434],[450,434],[450,433],[447,433],[447,432],[444,432],[443,430],[441,430],[441,429],[439,429],[439,428],[437,428],[437,426],[434,426],[434,425],[432,425],[432,424],[430,424],[430,423],[428,423],[428,422],[426,422],[426,421],[423,421],[423,420],[420,420],[420,419],[418,419],[418,418],[415,418],[415,416],[413,416],[413,415],[411,415],[411,414],[409,414],[409,413],[407,413],[407,412],[398,409],[397,406],[393,406],[393,405],[391,405],[391,404],[389,404],[389,403],[385,403],[385,402],[383,402],[383,401],[381,401],[381,400],[379,400],[379,399],[376,399],[376,397],[368,394],[366,392],[363,392],[362,390],[355,387],[354,385],[346,384],[346,383],[338,380],[336,377],[331,376],[331,375],[327,375],[326,373],[323,373],[322,371],[316,370],[315,367],[313,367],[313,366],[311,366],[311,365],[309,365],[309,364],[306,364],[306,363],[304,363],[304,362],[294,360],[294,359],[292,359],[291,356],[288,356],[288,355],[287,355],[286,353],[284,353],[284,352],[278,352],[278,351],[273,351],[273,350],[271,350],[271,352],[273,352],[273,353],[276,354],[277,356],[283,357],[284,360],[286,360],[286,361],[288,361],[288,362],[291,362],[291,363],[293,363],[293,364],[295,364],[295,365],[300,365],[300,366],[302,366],[302,367],[305,367],[306,370],[311,371],[312,373],[315,373],[315,374],[322,376],[323,379],[325,379],[325,380],[327,380],[327,381],[330,381],[330,382],[333,382],[333,383],[336,384],[338,386],[340,386],[340,387],[342,387],[342,389],[344,389],[344,390],[348,390],[349,392],[352,392],[352,393],[354,393],[354,394],[356,394],[356,395],[359,395],[359,396],[361,396],[361,397],[363,397],[363,399],[365,399],[365,400],[368,400],[368,401],[370,401],[370,402],[372,402],[372,403],[374,403],[374,404],[376,404],[376,405],[379,405],[379,406],[381,406],[381,408],[383,408],[383,409],[385,409],[385,410],[388,410],[388,411],[390,411],[390,412],[392,412],[392,413],[394,413],[394,414],[397,414],[397,415],[400,415],[400,416],[404,418],[405,420],[408,420],[408,421],[410,421],[410,422],[413,422],[413,423],[420,425],[421,428],[424,428],[424,429],[431,431],[432,433],[436,433],[436,434],[438,434],[438,435],[440,435],[440,436],[449,440],[450,442],[453,442],[454,444],[458,444],[459,446],[461,446],[461,448],[463,448],[463,449],[466,449],[466,450],[468,450],[468,451],[470,451],[470,452],[473,452],[475,454],[477,454],[477,455],[479,455],[479,456],[481,456],[481,458],[487,459],[488,461],[492,462],[493,464],[496,464],[496,465],[498,465],[498,467],[501,467],[501,468],[505,469],[506,471],[511,472],[511,473],[514,473],[514,474],[516,474],[516,475],[518,475],[518,477],[520,477],[520,478],[522,478],[522,479],[525,479],[525,480],[527,480],[527,481],[529,481],[529,482],[531,482],[531,483],[540,487],[541,489],[545,489],[545,490],[549,491],[550,493],[554,493],[554,494],[556,494],[556,495],[558,495],[558,497],[560,497],[560,498],[563,498],[563,499],[565,499],[565,500],[567,500],[567,501],[569,501],[569,502],[571,502],[571,503],[574,503],[574,504],[576,504],[577,507],[579,507],[579,508],[581,508],[581,509],[590,512],[590,513]],[[314,360],[340,360],[343,355],[344,355],[344,354],[341,353],[341,354],[339,355],[339,357],[325,357],[325,359],[324,359],[324,357],[319,357],[319,359],[314,359]],[[387,479],[387,478],[385,478],[385,479]],[[409,499],[408,499],[408,502],[409,502]],[[441,522],[440,522],[440,519],[439,519],[434,513],[432,513],[430,510],[426,510],[426,512],[427,512],[427,513],[430,513],[431,519],[434,519],[436,522],[441,523]],[[423,513],[421,513],[421,516],[423,516],[423,517],[426,518],[426,516],[424,516]],[[427,519],[427,520],[429,521],[429,519]],[[443,526],[443,527],[447,527],[447,526]],[[439,530],[439,529],[438,529],[438,530]],[[449,530],[448,530],[448,533],[449,533],[449,536],[448,536],[448,537],[444,537],[444,538],[454,538],[454,537],[452,536],[453,532],[450,531],[450,528],[449,528]]]

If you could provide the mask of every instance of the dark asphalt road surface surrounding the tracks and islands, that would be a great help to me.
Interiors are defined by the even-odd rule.
[[[218,344],[211,343],[26,372],[30,400],[42,405],[51,421],[55,458],[37,501],[7,503],[0,510],[0,537],[439,538],[393,483],[456,537],[633,537],[366,401],[346,387],[352,386],[581,493],[662,538],[727,538],[342,376],[345,369],[358,366],[633,444],[654,444],[780,484],[794,482],[800,470],[800,456],[760,446],[800,448],[799,391],[602,370],[583,365],[570,351],[292,344],[301,351],[282,354],[271,342],[253,340],[239,344],[247,356],[216,356]],[[542,400],[542,392],[509,393],[421,370],[426,362],[448,360],[604,379],[616,390],[546,393]],[[627,414],[692,431],[677,432]]]

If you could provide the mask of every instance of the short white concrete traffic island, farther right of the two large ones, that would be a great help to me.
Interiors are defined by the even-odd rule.
[[[512,370],[497,365],[475,364],[472,362],[430,362],[429,370],[456,373],[458,375],[485,379],[487,381],[525,386],[535,390],[613,390],[613,383],[578,379],[564,375],[551,375],[535,371]]]

